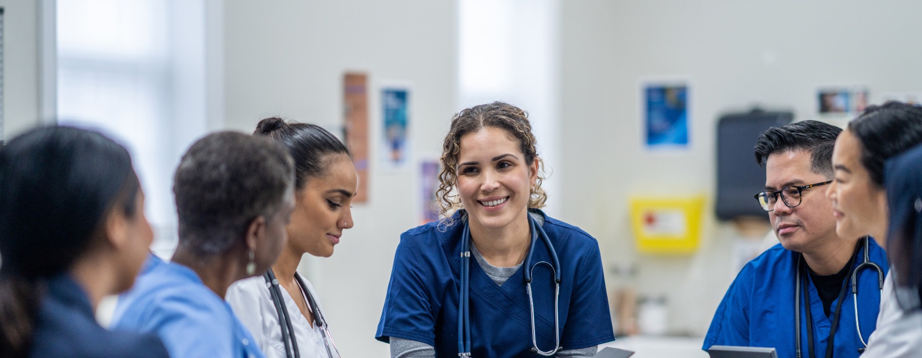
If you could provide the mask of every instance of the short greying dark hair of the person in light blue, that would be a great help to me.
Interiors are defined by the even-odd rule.
[[[257,217],[278,213],[293,182],[291,157],[266,137],[219,132],[199,139],[173,178],[179,245],[200,257],[225,252]]]

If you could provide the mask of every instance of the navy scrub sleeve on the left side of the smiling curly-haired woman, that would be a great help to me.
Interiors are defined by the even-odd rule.
[[[439,272],[434,265],[427,265],[414,243],[406,233],[401,235],[375,338],[389,342],[390,337],[398,337],[435,346],[436,315],[430,287],[436,287],[431,280]],[[433,242],[431,248],[439,246]],[[444,275],[452,274],[447,267],[442,271],[447,271],[441,272]]]

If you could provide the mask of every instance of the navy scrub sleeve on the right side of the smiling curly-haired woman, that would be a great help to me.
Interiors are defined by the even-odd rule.
[[[566,350],[592,347],[615,340],[602,256],[598,242],[592,240],[592,244],[582,255],[573,275],[573,294],[566,327],[561,336],[561,346]]]

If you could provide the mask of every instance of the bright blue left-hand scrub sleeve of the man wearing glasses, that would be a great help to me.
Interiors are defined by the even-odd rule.
[[[750,346],[750,295],[753,270],[747,265],[739,271],[736,280],[730,284],[727,294],[717,306],[711,327],[707,329],[702,349],[706,352],[713,345]]]

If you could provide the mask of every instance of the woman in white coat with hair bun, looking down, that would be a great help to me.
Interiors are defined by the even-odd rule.
[[[227,300],[266,357],[337,358],[313,285],[296,269],[305,253],[333,255],[352,227],[349,203],[358,179],[349,149],[317,125],[279,118],[259,121],[254,135],[282,144],[294,158],[295,209],[278,261],[263,277],[234,283]]]

